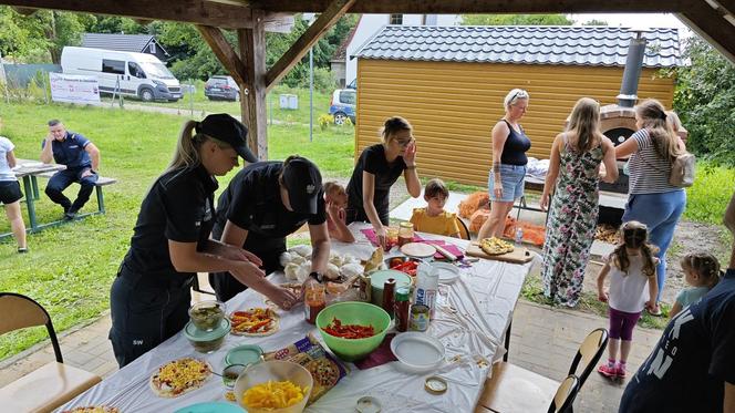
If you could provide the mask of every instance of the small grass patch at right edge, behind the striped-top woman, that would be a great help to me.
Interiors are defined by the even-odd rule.
[[[735,168],[700,162],[696,165],[695,176],[694,185],[686,189],[684,219],[722,224],[723,213],[733,196]]]

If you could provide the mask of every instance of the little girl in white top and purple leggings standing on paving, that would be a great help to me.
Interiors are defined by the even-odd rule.
[[[598,372],[607,378],[625,378],[633,328],[644,308],[651,312],[659,311],[656,247],[648,242],[648,234],[644,224],[634,220],[624,223],[620,229],[621,241],[598,278],[598,298],[608,303],[610,314],[608,362],[598,368]],[[610,287],[605,292],[604,280],[608,276]],[[620,357],[617,359],[618,354]]]

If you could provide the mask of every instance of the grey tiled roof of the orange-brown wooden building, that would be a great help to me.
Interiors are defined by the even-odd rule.
[[[363,59],[622,66],[635,34],[615,27],[386,25],[355,53]],[[651,29],[643,66],[682,64],[679,31]]]

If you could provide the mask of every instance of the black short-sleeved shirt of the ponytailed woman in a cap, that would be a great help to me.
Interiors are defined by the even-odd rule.
[[[168,240],[200,247],[209,239],[216,189],[217,180],[201,165],[161,176],[143,199],[124,264],[143,275],[176,272]]]

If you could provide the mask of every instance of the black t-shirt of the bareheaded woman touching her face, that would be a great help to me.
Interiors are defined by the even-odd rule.
[[[348,209],[362,210],[362,172],[375,175],[375,193],[373,194],[373,205],[379,216],[387,216],[389,194],[391,186],[398,180],[398,177],[406,168],[406,163],[402,156],[398,156],[392,163],[385,159],[385,147],[383,144],[368,146],[358,164],[354,166],[352,177],[348,184]]]

